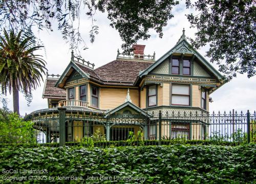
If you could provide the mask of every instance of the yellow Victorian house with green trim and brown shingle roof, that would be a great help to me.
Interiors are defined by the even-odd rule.
[[[207,116],[209,95],[224,84],[223,76],[191,47],[184,30],[174,47],[158,60],[155,53],[145,55],[144,48],[133,45],[134,53],[129,56],[118,51],[114,61],[97,68],[72,53],[61,75],[47,75],[42,98],[48,100],[48,108],[31,114],[43,116],[63,106],[73,116],[94,116],[93,121],[67,121],[66,141],[78,141],[96,130],[106,140],[125,140],[129,131],[142,131],[145,139],[158,139],[159,111],[163,117],[179,113]],[[131,118],[150,121],[129,122]],[[163,119],[161,126],[164,137],[205,137],[207,125],[166,120],[169,124]]]

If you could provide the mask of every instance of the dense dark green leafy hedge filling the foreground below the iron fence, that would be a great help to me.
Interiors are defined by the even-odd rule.
[[[140,183],[142,177],[145,177],[144,183],[254,183],[255,155],[256,145],[253,144],[0,148],[0,183],[13,182],[3,180],[7,176],[27,176],[13,183]],[[11,169],[22,172],[46,169],[47,173],[6,173]],[[42,180],[28,180],[29,176]],[[54,180],[50,181],[49,176],[55,177]],[[82,179],[57,180],[60,179],[57,176]],[[109,180],[103,180],[103,176]],[[88,180],[88,177],[95,180]]]

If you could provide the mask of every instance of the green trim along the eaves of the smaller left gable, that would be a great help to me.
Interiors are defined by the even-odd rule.
[[[83,72],[80,67],[78,67],[74,62],[70,61],[69,65],[67,66],[67,68],[65,69],[61,77],[58,79],[58,81],[56,82],[55,87],[63,88],[65,86],[65,82],[73,73],[73,71],[71,72],[72,69],[77,72],[77,75],[79,74],[81,77],[87,78],[87,79],[90,78],[90,75],[88,73]]]

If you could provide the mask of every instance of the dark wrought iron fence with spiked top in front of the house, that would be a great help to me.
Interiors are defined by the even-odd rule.
[[[23,146],[85,147],[185,144],[239,145],[256,143],[256,113],[155,111],[115,114],[59,107],[25,117],[34,123],[35,141]],[[3,143],[2,143],[3,145]],[[17,145],[16,145],[17,146]]]

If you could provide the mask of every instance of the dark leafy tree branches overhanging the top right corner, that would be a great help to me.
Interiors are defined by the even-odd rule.
[[[252,0],[198,0],[187,7],[200,13],[189,14],[191,27],[197,28],[195,40],[198,49],[209,43],[206,56],[219,64],[219,70],[227,80],[237,73],[247,73],[250,78],[256,74],[256,7]]]

